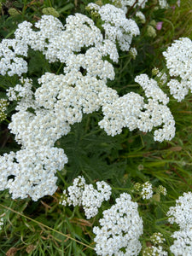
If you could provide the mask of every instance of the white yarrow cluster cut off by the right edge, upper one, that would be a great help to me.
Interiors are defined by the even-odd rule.
[[[192,41],[189,38],[179,38],[163,53],[166,57],[166,67],[172,77],[167,84],[172,96],[181,102],[192,90]]]

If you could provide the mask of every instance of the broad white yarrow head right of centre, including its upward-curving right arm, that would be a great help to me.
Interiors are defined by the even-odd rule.
[[[104,119],[99,125],[111,136],[119,134],[123,127],[128,127],[130,131],[138,128],[148,132],[155,126],[163,125],[154,131],[154,140],[171,140],[175,136],[175,121],[166,106],[169,98],[160,90],[157,82],[148,79],[146,74],[137,76],[135,81],[143,87],[148,104],[134,92],[118,97],[116,101],[102,107]]]

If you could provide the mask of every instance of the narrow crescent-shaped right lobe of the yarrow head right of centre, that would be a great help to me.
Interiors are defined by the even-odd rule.
[[[154,79],[148,79],[146,74],[136,77],[135,81],[143,87],[145,95],[148,98],[148,104],[144,104],[146,111],[140,113],[138,128],[147,132],[153,129],[153,126],[162,125],[163,127],[154,131],[154,140],[162,142],[171,140],[175,136],[175,121],[170,109],[166,106],[169,98],[160,90]]]

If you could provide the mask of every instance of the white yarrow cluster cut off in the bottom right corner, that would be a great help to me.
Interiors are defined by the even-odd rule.
[[[176,256],[189,256],[192,252],[192,192],[183,193],[176,201],[175,207],[167,212],[169,222],[177,223],[180,230],[173,233],[176,240],[170,250]]]

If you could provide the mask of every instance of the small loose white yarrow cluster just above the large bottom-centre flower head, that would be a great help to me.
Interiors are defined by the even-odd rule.
[[[108,201],[111,196],[111,187],[105,182],[96,182],[94,189],[92,184],[86,184],[84,177],[76,177],[73,185],[63,191],[63,206],[82,206],[86,218],[92,218],[98,213],[102,201]]]

